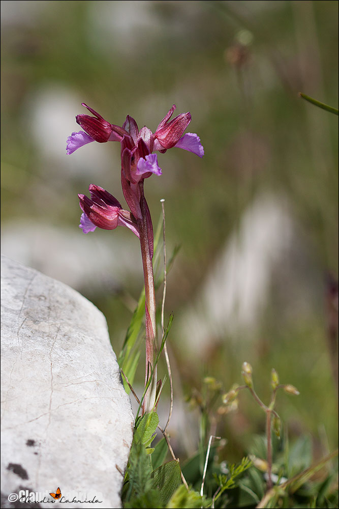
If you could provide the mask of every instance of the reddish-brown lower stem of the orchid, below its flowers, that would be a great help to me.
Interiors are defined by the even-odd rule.
[[[138,221],[140,233],[140,247],[145,284],[145,313],[146,313],[146,370],[145,386],[149,377],[152,379],[143,401],[143,413],[151,412],[156,404],[157,366],[155,360],[158,353],[157,327],[156,327],[156,296],[153,276],[153,229],[148,211],[147,202],[143,192],[143,183],[139,186],[140,208],[142,218]]]

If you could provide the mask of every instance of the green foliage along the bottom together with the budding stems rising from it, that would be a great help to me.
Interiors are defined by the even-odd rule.
[[[169,325],[165,331],[160,352],[164,346]],[[160,355],[160,354],[159,354]],[[158,360],[158,359],[157,359]],[[246,374],[251,366],[243,364]],[[252,370],[251,370],[252,376]],[[273,370],[270,380],[271,398],[266,406],[254,390],[254,383],[234,385],[223,395],[222,384],[214,377],[205,377],[201,392],[193,391],[191,405],[200,410],[200,441],[198,452],[183,466],[182,473],[191,485],[187,490],[181,484],[181,472],[176,460],[163,463],[167,456],[167,444],[163,438],[156,448],[151,447],[159,423],[155,412],[136,420],[131,459],[126,476],[124,493],[125,507],[316,507],[330,508],[337,504],[336,473],[333,469],[322,475],[321,480],[313,476],[332,461],[335,451],[328,457],[312,464],[312,441],[307,435],[300,436],[290,444],[287,431],[281,434],[281,419],[274,410],[276,391],[286,389],[288,393],[298,391],[291,385],[279,384],[278,374]],[[254,436],[249,448],[250,458],[244,457],[239,464],[228,464],[219,460],[221,447],[214,440],[209,450],[206,470],[207,437],[211,422],[223,408],[232,408],[242,390],[250,391],[256,403],[272,417],[272,427],[266,428],[265,436]],[[230,394],[233,394],[230,397]],[[221,406],[220,406],[221,405]],[[219,412],[220,413],[220,412]],[[274,426],[274,419],[278,425]],[[277,433],[276,431],[279,431]],[[270,453],[268,455],[268,445]],[[202,473],[204,472],[204,474]],[[202,487],[207,498],[199,495]],[[270,475],[270,477],[269,477]],[[271,483],[269,483],[269,478]]]

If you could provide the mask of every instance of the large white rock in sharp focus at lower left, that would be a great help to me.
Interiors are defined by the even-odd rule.
[[[96,507],[121,507],[133,414],[104,316],[66,285],[2,257],[1,318],[2,507],[32,506],[9,505],[20,489],[40,492],[35,506],[50,507],[58,487],[81,501],[56,506],[88,507],[95,496]]]

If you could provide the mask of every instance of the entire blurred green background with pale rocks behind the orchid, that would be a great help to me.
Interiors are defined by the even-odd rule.
[[[125,203],[119,145],[66,156],[66,139],[81,102],[153,131],[173,103],[191,111],[204,158],[160,154],[163,175],[145,183],[155,225],[166,200],[168,256],[180,245],[166,314],[182,457],[198,434],[185,397],[204,376],[225,391],[240,383],[244,360],[264,400],[271,367],[300,390],[278,398],[291,437],[311,434],[316,456],[336,445],[337,117],[298,92],[337,107],[337,11],[307,0],[2,2],[2,250],[93,301],[116,353],[142,288],[139,245],[127,229],[84,236],[77,193],[95,183]],[[238,460],[264,414],[241,394],[215,426]]]

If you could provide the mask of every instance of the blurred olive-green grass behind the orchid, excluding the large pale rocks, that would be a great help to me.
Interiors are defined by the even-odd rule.
[[[176,317],[193,300],[243,211],[265,190],[283,193],[291,205],[306,252],[299,268],[305,265],[308,285],[298,295],[309,293],[304,313],[293,314],[284,309],[289,301],[293,308],[293,289],[281,297],[272,285],[256,334],[216,338],[201,363],[190,359],[174,318],[169,341],[181,377],[176,383],[189,392],[209,374],[227,390],[248,360],[264,398],[274,366],[301,393],[298,400],[279,401],[291,433],[310,432],[322,447],[324,426],[333,447],[336,404],[322,281],[328,273],[338,276],[337,122],[300,100],[298,92],[337,107],[337,2],[69,1],[65,11],[65,2],[55,1],[2,7],[3,224],[30,218],[72,226],[80,235],[76,194],[96,183],[96,168],[93,177],[70,172],[65,181],[58,176],[60,161],[46,161],[26,117],[37,91],[56,84],[112,123],[130,114],[139,127],[153,130],[172,103],[178,112],[190,110],[189,130],[201,137],[204,158],[184,151],[160,154],[163,176],[146,183],[153,220],[165,197],[168,246],[181,245],[168,280],[168,312]],[[49,110],[52,119],[53,104]],[[69,117],[80,112],[79,104]],[[46,132],[41,142],[53,139]],[[110,187],[117,153],[112,150],[104,180],[120,199],[121,191]],[[68,158],[62,164],[67,167]],[[122,238],[118,231],[108,235]],[[295,263],[293,253],[287,263]],[[122,290],[137,299],[140,280],[128,279]],[[130,310],[119,294],[93,289],[87,296],[106,315],[118,353]],[[240,431],[232,416],[219,432],[235,460],[251,431],[264,426],[251,403],[242,402],[240,410]]]

